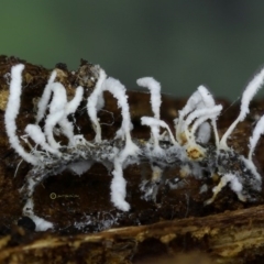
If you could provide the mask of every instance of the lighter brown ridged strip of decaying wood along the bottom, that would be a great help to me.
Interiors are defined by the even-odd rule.
[[[264,206],[75,237],[16,229],[0,245],[1,263],[143,263],[189,251],[207,253],[211,263],[257,263],[264,250]]]

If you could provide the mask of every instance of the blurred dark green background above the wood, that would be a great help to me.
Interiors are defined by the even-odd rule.
[[[264,64],[261,0],[1,0],[0,22],[1,54],[69,69],[86,58],[130,89],[153,76],[175,97],[205,84],[235,100]]]

